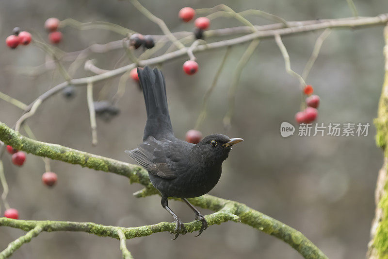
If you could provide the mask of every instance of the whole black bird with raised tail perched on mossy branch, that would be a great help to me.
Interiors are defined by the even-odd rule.
[[[153,186],[162,194],[162,207],[174,217],[177,227],[175,239],[186,228],[168,207],[168,197],[183,199],[194,211],[195,220],[202,222],[198,236],[208,227],[205,217],[188,201],[208,193],[221,176],[222,162],[231,146],[242,138],[212,134],[198,144],[188,143],[174,136],[167,106],[166,86],[162,72],[155,68],[137,69],[147,110],[143,143],[126,151],[148,171]]]

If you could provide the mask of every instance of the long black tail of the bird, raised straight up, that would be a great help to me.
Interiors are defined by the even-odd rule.
[[[147,110],[147,122],[143,140],[149,136],[156,139],[174,136],[170,114],[168,112],[166,83],[162,71],[154,68],[137,68],[140,86],[143,89],[144,101]]]

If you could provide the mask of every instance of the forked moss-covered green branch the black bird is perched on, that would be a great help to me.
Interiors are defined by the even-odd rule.
[[[140,183],[146,188],[136,193],[138,197],[158,193],[149,181],[146,170],[139,166],[117,161],[111,158],[93,155],[75,149],[67,148],[57,144],[44,143],[31,138],[24,137],[18,132],[10,129],[0,122],[0,140],[11,145],[18,150],[61,160],[70,164],[79,164],[82,167],[89,167],[95,170],[111,172],[126,176],[131,183]],[[198,207],[208,208],[215,211],[205,218],[209,225],[221,224],[226,221],[242,222],[248,224],[264,233],[275,236],[291,245],[296,251],[307,259],[327,258],[311,241],[301,232],[283,224],[257,210],[254,210],[242,203],[229,201],[226,199],[203,195],[189,201]],[[118,231],[121,230],[126,239],[148,236],[162,231],[173,231],[174,223],[161,222],[159,224],[139,226],[139,227],[119,227],[104,226],[95,223],[61,222],[61,221],[27,221],[0,218],[0,225],[19,228],[31,231],[37,226],[42,227],[42,231],[82,231],[92,233],[97,236],[112,237],[120,239]],[[201,228],[200,222],[185,224],[188,232],[198,231]],[[31,239],[30,239],[31,240]],[[12,243],[11,243],[12,244]],[[10,245],[11,245],[10,244]],[[14,245],[12,245],[14,247]]]

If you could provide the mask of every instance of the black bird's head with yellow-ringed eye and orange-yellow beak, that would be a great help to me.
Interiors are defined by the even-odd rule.
[[[232,146],[241,141],[243,141],[242,138],[229,138],[222,134],[211,134],[199,141],[195,145],[195,150],[210,163],[222,163],[229,155]]]

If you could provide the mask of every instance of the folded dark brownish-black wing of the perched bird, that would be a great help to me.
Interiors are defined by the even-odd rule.
[[[150,136],[136,149],[126,153],[149,173],[165,179],[174,179],[186,172],[187,163],[184,163],[182,158],[190,147],[190,143],[181,140],[157,140]]]

